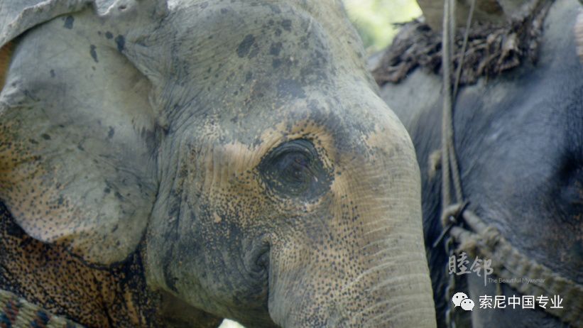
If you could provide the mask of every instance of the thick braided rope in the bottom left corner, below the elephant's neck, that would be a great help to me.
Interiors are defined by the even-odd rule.
[[[0,290],[1,328],[83,328],[63,317],[27,302],[6,290]]]

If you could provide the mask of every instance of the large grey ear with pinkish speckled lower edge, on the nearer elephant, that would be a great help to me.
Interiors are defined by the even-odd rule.
[[[148,33],[161,4],[0,3],[0,45],[20,36],[0,94],[0,199],[27,234],[90,263],[123,261],[153,207],[156,112],[124,35]]]

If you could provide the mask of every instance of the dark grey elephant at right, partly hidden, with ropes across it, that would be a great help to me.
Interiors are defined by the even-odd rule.
[[[441,217],[442,175],[449,170],[442,164],[443,2],[420,0],[425,23],[406,25],[391,48],[371,65],[376,65],[374,76],[382,84],[381,97],[403,121],[417,153],[437,326],[451,327],[449,313],[457,327],[582,327],[583,65],[575,36],[579,33],[580,46],[581,26],[574,28],[581,3],[477,0],[462,63],[460,48],[471,2],[457,1],[459,33],[452,56],[456,66],[451,70],[458,91],[449,131],[462,200],[467,202],[465,209],[457,207],[457,214],[476,214],[520,258],[544,266],[553,278],[568,280],[565,285],[575,296],[561,293],[556,301],[562,299],[561,306],[579,310],[566,319],[567,314],[548,314],[539,302],[534,308],[523,308],[521,303],[508,306],[510,297],[533,296],[521,292],[523,288],[536,284],[552,288],[552,282],[533,270],[528,277],[516,273],[523,270],[519,267],[523,262],[518,261],[509,263],[508,270],[515,270],[509,279],[501,280],[494,268],[487,278],[485,270],[481,275],[480,271],[459,275],[455,266],[460,256],[468,256],[468,269],[479,258],[491,260],[492,267],[496,260],[469,256],[462,244],[453,245],[458,253],[446,251],[447,237],[453,235],[448,231],[456,228],[444,231]],[[510,33],[505,30],[508,24],[515,24]],[[494,45],[501,51],[496,53]],[[456,72],[459,65],[461,75]],[[464,214],[457,228],[473,231],[467,217],[472,216]],[[452,293],[464,293],[474,309],[455,307]],[[501,297],[506,307],[494,308],[491,303],[489,307],[481,302],[486,296]],[[542,296],[548,297],[547,307],[552,306],[555,295]]]

